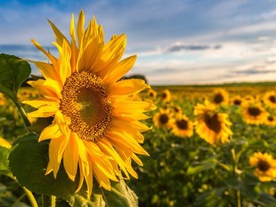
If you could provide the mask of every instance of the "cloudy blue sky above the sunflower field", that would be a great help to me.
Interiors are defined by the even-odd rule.
[[[45,59],[30,39],[54,50],[46,19],[68,36],[81,9],[86,19],[95,15],[106,40],[127,34],[125,56],[138,55],[129,75],[144,74],[152,85],[276,79],[273,0],[0,0],[0,52]]]

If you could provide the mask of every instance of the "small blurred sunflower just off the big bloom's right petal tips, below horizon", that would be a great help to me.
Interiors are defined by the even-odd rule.
[[[158,128],[170,128],[172,114],[169,109],[160,109],[153,117],[153,122]]]

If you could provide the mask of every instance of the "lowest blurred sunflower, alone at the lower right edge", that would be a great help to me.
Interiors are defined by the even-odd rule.
[[[255,152],[249,157],[249,164],[256,167],[254,174],[262,182],[271,181],[276,177],[276,160],[266,152]]]

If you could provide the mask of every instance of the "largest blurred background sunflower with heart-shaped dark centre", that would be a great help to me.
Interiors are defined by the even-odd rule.
[[[197,116],[194,124],[199,137],[212,145],[229,141],[233,132],[230,130],[232,123],[228,121],[227,114],[216,112],[215,106],[206,100],[204,104],[197,103],[194,115]]]

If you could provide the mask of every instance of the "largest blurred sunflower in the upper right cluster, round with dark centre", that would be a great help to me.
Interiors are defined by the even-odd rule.
[[[268,112],[262,107],[261,103],[250,102],[243,105],[244,121],[247,124],[264,124],[268,117]]]

